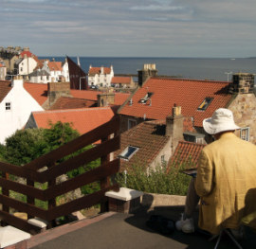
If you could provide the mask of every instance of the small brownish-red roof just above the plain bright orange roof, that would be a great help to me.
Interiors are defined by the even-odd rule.
[[[78,109],[78,108],[88,108],[97,107],[96,100],[88,100],[83,98],[69,98],[61,97],[48,109],[50,110],[64,110],[64,109]]]

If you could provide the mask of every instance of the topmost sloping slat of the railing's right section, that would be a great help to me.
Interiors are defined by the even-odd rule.
[[[107,136],[111,133],[117,133],[119,131],[120,125],[120,117],[117,116],[113,118],[111,121],[99,126],[89,133],[84,133],[80,137],[70,141],[64,146],[50,151],[49,153],[42,155],[41,157],[36,158],[32,162],[28,163],[24,166],[27,169],[41,169],[48,165],[51,162],[58,161],[64,156],[73,153],[75,151],[79,151],[82,148],[98,141],[101,137]]]

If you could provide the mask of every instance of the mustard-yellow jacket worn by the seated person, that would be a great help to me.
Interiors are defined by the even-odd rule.
[[[199,227],[212,234],[241,222],[256,228],[256,146],[223,133],[198,160]]]

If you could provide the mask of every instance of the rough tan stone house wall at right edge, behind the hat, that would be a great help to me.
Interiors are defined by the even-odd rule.
[[[229,105],[236,125],[249,127],[249,142],[256,144],[256,97],[254,94],[239,94]],[[235,131],[241,137],[241,130]]]

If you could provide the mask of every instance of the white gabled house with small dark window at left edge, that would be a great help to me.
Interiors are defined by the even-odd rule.
[[[22,76],[0,81],[0,143],[17,130],[23,129],[31,112],[44,111],[23,86]]]

